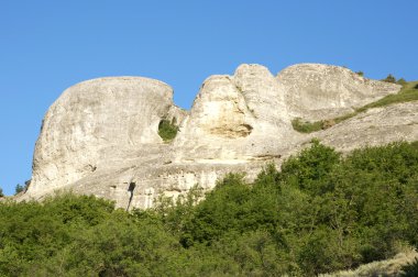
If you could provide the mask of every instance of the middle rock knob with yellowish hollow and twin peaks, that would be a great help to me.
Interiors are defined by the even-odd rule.
[[[279,155],[293,144],[284,89],[267,68],[242,65],[234,76],[211,76],[174,141],[177,160],[237,160]]]

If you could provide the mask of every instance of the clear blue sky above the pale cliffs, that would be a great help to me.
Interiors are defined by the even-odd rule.
[[[323,63],[418,79],[416,0],[0,0],[0,187],[31,178],[42,118],[64,89],[145,76],[190,108],[243,63]]]

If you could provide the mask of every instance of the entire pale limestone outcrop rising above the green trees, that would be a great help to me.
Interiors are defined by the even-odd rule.
[[[233,76],[205,80],[189,112],[174,106],[170,87],[153,79],[101,78],[76,85],[46,113],[35,147],[32,184],[19,199],[42,199],[57,189],[69,189],[116,200],[121,208],[150,208],[160,193],[176,197],[197,184],[211,189],[230,171],[245,173],[252,179],[266,163],[279,164],[312,138],[293,130],[293,117],[312,118],[315,107],[337,114],[350,101],[366,103],[398,89],[355,79],[344,68],[308,67],[312,76],[323,77],[316,82],[323,90],[314,96],[302,91],[306,82],[315,82],[305,69],[297,77],[299,69],[290,67],[276,78],[263,66],[241,65]],[[319,68],[318,73],[312,68]],[[341,76],[345,79],[339,80]],[[356,81],[351,87],[350,78]],[[305,85],[293,87],[290,80]],[[338,96],[340,87],[344,96]],[[299,98],[323,103],[299,103],[290,97],[295,91]],[[417,103],[405,103],[372,110],[315,136],[343,151],[350,145],[417,140]],[[158,136],[162,120],[178,125],[169,143]]]

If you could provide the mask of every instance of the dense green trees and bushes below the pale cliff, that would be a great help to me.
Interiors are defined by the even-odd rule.
[[[0,203],[0,276],[314,276],[418,246],[418,143],[342,157],[314,141],[201,195],[132,213],[72,195]]]

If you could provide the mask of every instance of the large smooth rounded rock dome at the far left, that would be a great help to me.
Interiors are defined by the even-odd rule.
[[[28,193],[44,195],[111,157],[161,143],[157,128],[172,98],[166,84],[140,77],[100,78],[67,89],[43,121]]]

